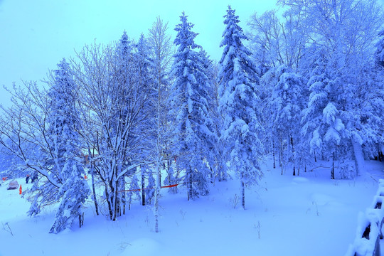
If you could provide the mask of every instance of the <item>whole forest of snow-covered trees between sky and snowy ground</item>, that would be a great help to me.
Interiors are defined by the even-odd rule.
[[[161,186],[185,186],[194,200],[231,172],[245,208],[265,156],[282,175],[328,161],[330,178],[353,178],[364,159],[381,161],[380,4],[278,7],[252,15],[243,31],[228,6],[218,63],[182,13],[174,41],[157,18],[137,41],[124,31],[117,43],[63,58],[43,83],[14,85],[13,105],[0,116],[1,154],[11,161],[4,171],[38,174],[28,215],[58,203],[50,233],[59,233],[83,218],[87,200],[116,220],[136,199],[153,206],[158,232]]]

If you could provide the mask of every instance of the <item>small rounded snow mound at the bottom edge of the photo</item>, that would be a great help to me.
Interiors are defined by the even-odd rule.
[[[156,252],[161,251],[160,243],[151,238],[139,238],[129,242],[121,255],[135,256],[150,256],[156,255]]]

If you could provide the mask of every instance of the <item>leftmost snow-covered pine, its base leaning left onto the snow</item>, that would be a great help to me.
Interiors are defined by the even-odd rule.
[[[56,169],[55,173],[60,177],[62,186],[55,195],[61,200],[50,233],[59,233],[69,228],[73,221],[82,215],[81,206],[90,193],[83,178],[85,172],[80,164],[80,142],[76,132],[77,87],[65,59],[58,64],[58,68],[54,72],[54,83],[48,91],[51,102],[48,132],[53,139],[51,150],[56,156],[53,168]]]

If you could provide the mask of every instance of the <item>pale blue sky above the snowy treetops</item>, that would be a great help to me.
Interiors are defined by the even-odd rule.
[[[161,16],[169,32],[181,11],[199,33],[196,38],[212,58],[221,55],[223,16],[228,4],[236,9],[242,27],[254,12],[273,9],[275,0],[0,0],[0,103],[8,105],[3,85],[41,80],[62,58],[74,55],[85,44],[117,41],[126,30],[130,38],[147,33]]]

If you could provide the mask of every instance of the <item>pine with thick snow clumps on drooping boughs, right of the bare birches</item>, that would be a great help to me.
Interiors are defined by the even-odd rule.
[[[312,54],[316,57],[313,58],[307,82],[310,94],[307,106],[302,110],[301,132],[309,142],[311,154],[321,153],[334,161],[336,149],[345,137],[345,127],[336,108],[335,81],[331,80],[325,49],[320,48]],[[331,179],[334,178],[335,171],[332,168]]]

